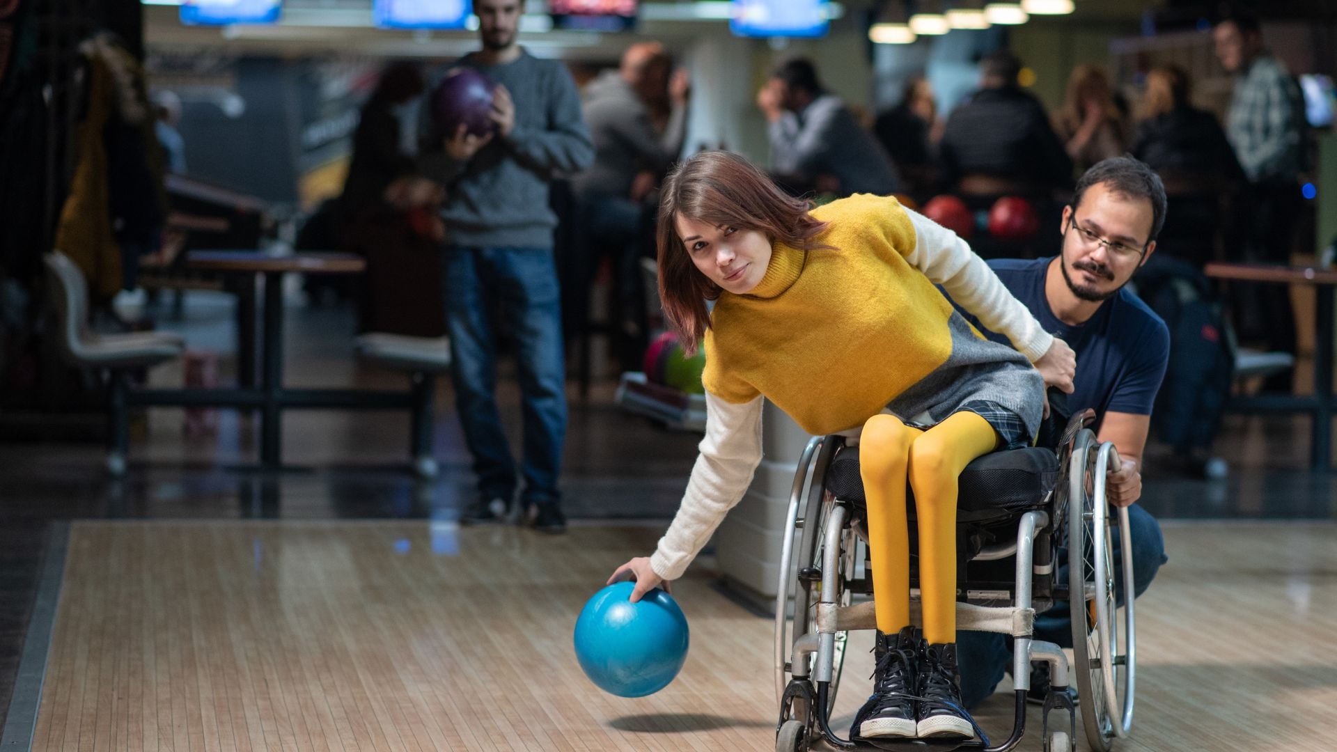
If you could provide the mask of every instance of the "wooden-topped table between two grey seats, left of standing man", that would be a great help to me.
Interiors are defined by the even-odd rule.
[[[235,388],[136,389],[128,403],[140,405],[259,408],[259,462],[262,470],[281,467],[282,411],[285,408],[412,409],[412,391],[384,389],[289,389],[283,387],[283,274],[361,274],[366,261],[352,253],[297,253],[270,256],[257,250],[195,250],[186,268],[261,281],[263,288],[259,387],[245,372]],[[245,305],[245,304],[243,304]],[[245,317],[243,317],[245,318]],[[254,321],[254,318],[251,318]],[[254,332],[242,332],[238,361],[254,363]]]

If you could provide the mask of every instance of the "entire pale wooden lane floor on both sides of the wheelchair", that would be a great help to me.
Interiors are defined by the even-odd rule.
[[[1136,721],[1120,748],[1337,748],[1333,533],[1166,527],[1171,561],[1138,601]],[[580,673],[580,606],[658,534],[78,522],[32,748],[773,749],[773,624],[705,566],[674,587],[693,632],[671,685],[624,700]],[[869,645],[852,640],[841,733],[866,696]],[[1003,735],[1009,697],[979,720]],[[1019,749],[1040,749],[1039,723],[1032,708]]]

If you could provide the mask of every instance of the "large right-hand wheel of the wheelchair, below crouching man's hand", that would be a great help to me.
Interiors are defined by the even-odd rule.
[[[1120,629],[1116,578],[1132,591],[1127,510],[1110,514],[1104,474],[1114,444],[1096,444],[1090,431],[1078,438],[1068,467],[1068,603],[1072,617],[1074,673],[1082,721],[1092,749],[1107,752],[1132,724],[1134,633],[1131,605]],[[1114,530],[1123,545],[1123,567],[1114,567]]]

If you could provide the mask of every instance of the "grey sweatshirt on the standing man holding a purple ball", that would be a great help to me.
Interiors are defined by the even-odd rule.
[[[558,217],[548,207],[548,182],[579,173],[594,158],[580,96],[566,67],[521,51],[503,66],[483,66],[465,55],[457,66],[477,68],[503,84],[515,100],[515,127],[495,136],[468,162],[445,154],[444,130],[435,123],[431,98],[418,169],[447,187],[441,206],[447,242],[471,248],[552,248]]]

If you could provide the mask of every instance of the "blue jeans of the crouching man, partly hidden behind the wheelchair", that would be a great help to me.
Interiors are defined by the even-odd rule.
[[[1169,558],[1165,539],[1161,537],[1161,525],[1139,504],[1128,507],[1128,529],[1132,531],[1132,594],[1136,598],[1146,593],[1157,570]],[[1123,559],[1118,530],[1112,538],[1111,558],[1118,570]],[[1056,555],[1059,566],[1055,577],[1059,582],[1067,582],[1068,553],[1066,549],[1059,549]],[[1115,598],[1123,605],[1122,581],[1116,579],[1116,583]],[[1035,616],[1035,638],[1055,642],[1060,648],[1072,646],[1072,620],[1067,601],[1055,602],[1052,609]],[[967,708],[975,707],[993,694],[993,688],[1003,680],[1003,672],[1012,669],[1011,638],[995,632],[961,630],[956,634],[956,658],[961,670],[961,702]]]

